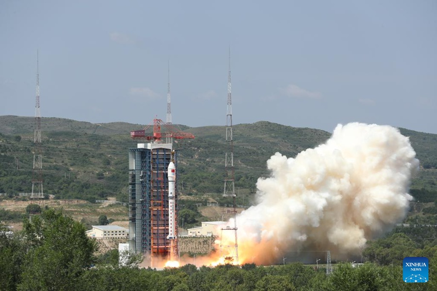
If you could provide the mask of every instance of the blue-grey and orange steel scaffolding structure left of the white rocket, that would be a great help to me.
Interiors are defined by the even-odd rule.
[[[130,250],[152,259],[166,257],[170,252],[167,169],[171,148],[130,148],[129,160]]]

